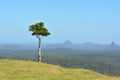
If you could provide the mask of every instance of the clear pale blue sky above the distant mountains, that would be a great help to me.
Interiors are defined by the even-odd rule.
[[[38,22],[51,33],[43,43],[120,44],[120,0],[0,0],[0,43],[37,43]]]

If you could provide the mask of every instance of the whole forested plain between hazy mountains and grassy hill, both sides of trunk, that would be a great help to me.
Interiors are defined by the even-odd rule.
[[[42,62],[65,68],[85,68],[120,76],[120,51],[79,51],[71,49],[44,49]],[[0,59],[37,61],[37,50],[0,50]]]

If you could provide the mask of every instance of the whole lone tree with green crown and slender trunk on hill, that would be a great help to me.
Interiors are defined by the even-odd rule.
[[[36,36],[39,40],[38,45],[38,62],[41,62],[41,38],[42,36],[50,35],[50,32],[44,27],[43,22],[39,22],[29,26],[29,31],[32,31],[32,35]]]

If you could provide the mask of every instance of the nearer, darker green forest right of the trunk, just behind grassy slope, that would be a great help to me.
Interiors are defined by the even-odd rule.
[[[85,55],[79,54],[74,56],[72,54],[71,55],[46,54],[43,56],[43,62],[60,65],[65,68],[85,68],[85,69],[94,70],[96,72],[106,74],[106,75],[120,76],[120,64],[118,64],[117,62],[112,61],[112,59],[110,61],[105,61],[105,60],[102,60],[102,58],[101,60],[98,60],[97,58],[92,60],[89,58],[87,54]],[[93,58],[95,58],[95,56]]]

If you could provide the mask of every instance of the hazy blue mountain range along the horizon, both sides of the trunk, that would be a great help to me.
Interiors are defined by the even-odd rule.
[[[12,49],[12,50],[23,50],[23,49],[37,49],[38,44],[1,44],[0,49]],[[120,50],[120,46],[115,42],[111,42],[109,45],[95,44],[92,42],[86,42],[83,44],[73,44],[71,41],[65,41],[64,43],[56,44],[42,44],[42,48],[56,49],[56,48],[70,48],[77,50],[89,50],[89,51],[112,51]]]

